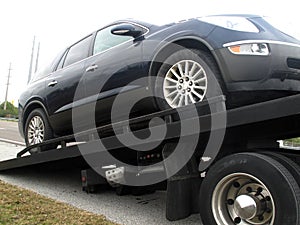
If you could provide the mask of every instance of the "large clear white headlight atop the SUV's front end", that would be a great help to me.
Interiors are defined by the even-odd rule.
[[[206,16],[199,17],[198,20],[211,23],[226,29],[258,33],[258,28],[244,17],[238,16]]]

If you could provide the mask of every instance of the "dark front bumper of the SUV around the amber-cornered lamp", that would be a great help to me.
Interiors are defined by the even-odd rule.
[[[254,43],[248,41],[251,42]],[[239,42],[215,51],[228,91],[300,91],[300,45],[256,42],[266,43],[270,53],[265,56],[232,53],[228,47]]]

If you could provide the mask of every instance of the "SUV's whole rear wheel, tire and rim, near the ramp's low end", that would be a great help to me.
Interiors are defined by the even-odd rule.
[[[37,131],[39,130],[39,131]],[[37,131],[37,133],[34,133]],[[26,146],[39,144],[53,138],[53,131],[49,124],[48,118],[42,109],[33,110],[25,123],[25,142]],[[56,145],[55,145],[56,147]],[[54,145],[42,146],[40,151],[53,149]],[[37,153],[39,150],[32,149],[30,153]]]

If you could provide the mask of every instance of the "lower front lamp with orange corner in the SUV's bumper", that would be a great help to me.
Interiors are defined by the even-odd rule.
[[[238,55],[269,55],[268,45],[265,43],[251,43],[233,45],[228,47],[229,51]]]

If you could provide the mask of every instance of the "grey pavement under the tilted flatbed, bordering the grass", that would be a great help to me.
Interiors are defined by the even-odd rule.
[[[22,147],[0,142],[0,161],[14,157]],[[86,194],[81,189],[80,171],[19,169],[0,172],[0,179],[68,203],[125,225],[201,225],[199,215],[169,222],[165,218],[166,192],[158,191],[144,196],[117,196],[113,190]]]

